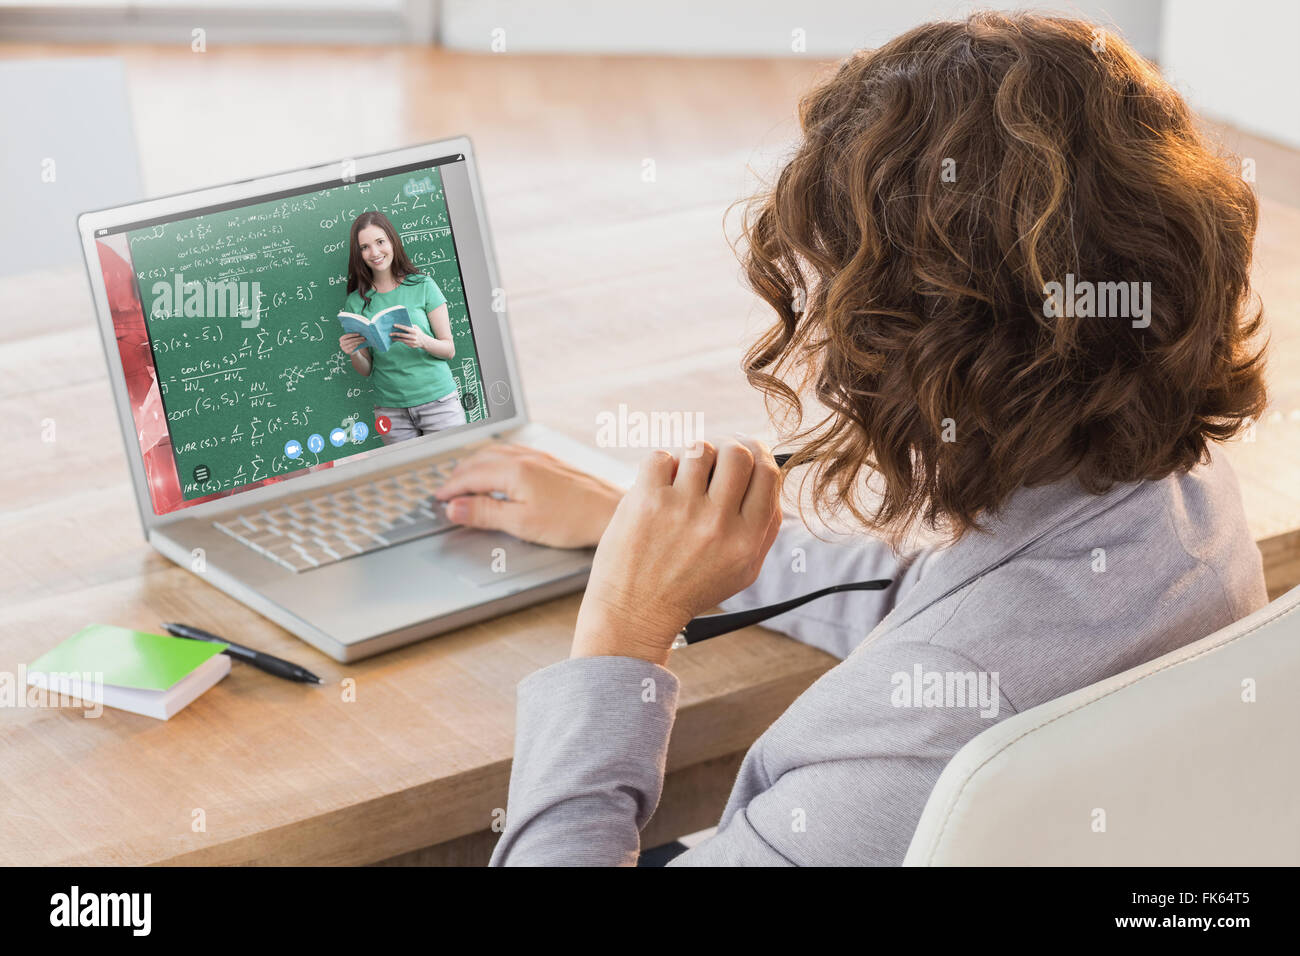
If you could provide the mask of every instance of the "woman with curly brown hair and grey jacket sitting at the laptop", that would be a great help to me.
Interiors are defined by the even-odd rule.
[[[718,604],[893,579],[774,619],[841,663],[675,864],[898,864],[980,731],[1265,604],[1213,451],[1265,403],[1256,199],[1158,73],[1089,23],[984,13],[849,57],[800,120],[746,217],[777,320],[745,368],[796,420],[786,467],[854,533],[783,516],[748,438],[655,453],[627,494],[529,451],[465,462],[452,519],[599,542],[571,658],[519,685],[495,864],[637,860],[670,648]],[[824,414],[805,425],[809,397]],[[930,675],[982,692],[932,696]]]

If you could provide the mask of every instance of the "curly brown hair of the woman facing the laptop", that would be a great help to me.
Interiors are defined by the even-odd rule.
[[[745,372],[793,414],[819,514],[956,537],[1020,486],[1191,468],[1262,411],[1256,198],[1117,36],[927,23],[844,61],[800,124],[745,211],[746,278],[779,316]],[[1048,307],[1075,277],[1149,282],[1148,324]],[[805,428],[810,382],[827,414]]]

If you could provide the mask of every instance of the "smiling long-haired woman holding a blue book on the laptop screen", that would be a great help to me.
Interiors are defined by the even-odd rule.
[[[352,222],[347,259],[344,312],[373,319],[393,306],[406,306],[413,325],[393,326],[387,351],[367,346],[355,332],[338,343],[352,368],[370,378],[374,418],[385,445],[465,424],[448,362],[456,355],[447,299],[438,285],[407,258],[402,239],[382,212],[363,212]]]

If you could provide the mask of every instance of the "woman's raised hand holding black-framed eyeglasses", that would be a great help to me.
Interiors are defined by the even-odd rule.
[[[781,527],[780,468],[751,438],[697,450],[641,466],[595,551],[571,657],[667,663],[686,622],[758,578]]]

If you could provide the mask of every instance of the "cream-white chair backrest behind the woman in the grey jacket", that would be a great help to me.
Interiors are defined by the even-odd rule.
[[[1296,864],[1300,588],[968,741],[904,861]]]

